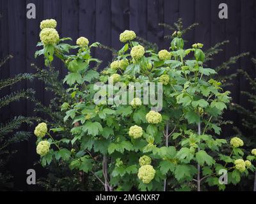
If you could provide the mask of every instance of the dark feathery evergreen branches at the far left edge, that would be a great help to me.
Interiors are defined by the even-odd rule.
[[[3,61],[0,62],[0,68],[11,59],[12,56],[9,55]],[[4,91],[8,87],[22,80],[32,80],[33,75],[28,73],[19,74],[13,78],[6,78],[0,80],[0,91]],[[10,94],[0,98],[0,112],[1,108],[9,105],[14,101],[19,101],[20,99],[32,99],[34,91],[32,89],[20,90],[17,92],[11,92]],[[2,109],[3,110],[3,109]],[[17,116],[13,117],[4,123],[0,123],[0,189],[6,191],[12,189],[12,175],[8,172],[7,164],[10,161],[12,154],[15,154],[15,150],[10,150],[10,145],[13,143],[22,142],[28,140],[31,133],[28,131],[17,131],[22,124],[33,124],[31,122],[33,118]]]

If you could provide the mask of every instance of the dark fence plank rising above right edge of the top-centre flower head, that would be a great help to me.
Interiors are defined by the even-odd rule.
[[[130,29],[147,40],[147,0],[130,0]]]

